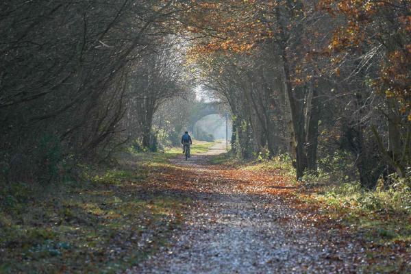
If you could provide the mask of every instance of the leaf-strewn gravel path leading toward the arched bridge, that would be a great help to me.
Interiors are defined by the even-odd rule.
[[[275,177],[208,164],[225,144],[189,161],[173,160],[193,203],[170,245],[127,273],[357,273],[359,243],[307,226],[282,195]],[[360,255],[359,255],[360,254]]]

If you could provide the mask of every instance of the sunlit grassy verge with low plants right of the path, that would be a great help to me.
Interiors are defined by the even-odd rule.
[[[319,206],[364,242],[364,273],[411,272],[411,192],[409,189],[362,190],[359,184],[321,186],[297,192],[304,203]]]

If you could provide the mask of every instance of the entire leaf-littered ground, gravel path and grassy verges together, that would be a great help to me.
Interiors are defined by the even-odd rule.
[[[224,151],[125,153],[87,182],[0,191],[0,273],[410,273],[410,238],[357,229],[364,212],[309,199],[284,162]]]

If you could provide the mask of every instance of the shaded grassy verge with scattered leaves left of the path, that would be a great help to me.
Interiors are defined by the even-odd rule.
[[[158,188],[171,157],[127,154],[82,182],[0,190],[0,273],[117,273],[166,245],[190,203]]]

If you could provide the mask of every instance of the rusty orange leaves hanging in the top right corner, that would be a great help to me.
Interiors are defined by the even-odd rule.
[[[410,1],[323,0],[319,7],[334,17],[344,16],[347,20],[334,31],[329,45],[333,51],[383,48],[380,75],[373,84],[387,98],[395,97],[401,113],[411,120]]]

